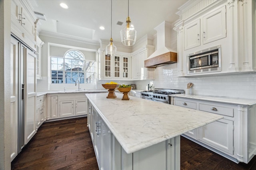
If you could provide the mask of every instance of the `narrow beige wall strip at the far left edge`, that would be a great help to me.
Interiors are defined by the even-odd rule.
[[[10,11],[11,1],[0,0],[0,170],[11,169]]]

